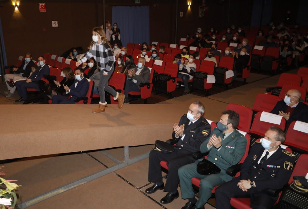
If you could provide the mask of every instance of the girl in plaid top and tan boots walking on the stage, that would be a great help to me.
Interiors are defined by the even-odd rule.
[[[119,108],[122,108],[125,97],[124,94],[116,92],[113,88],[108,86],[108,80],[114,71],[115,56],[112,53],[105,31],[101,27],[93,28],[92,41],[89,50],[81,60],[76,62],[76,66],[78,67],[91,57],[94,57],[97,62],[97,67],[100,69],[100,81],[99,86],[97,87],[100,97],[99,107],[93,110],[92,113],[105,112],[107,105],[105,91],[109,92],[115,100],[118,100]]]

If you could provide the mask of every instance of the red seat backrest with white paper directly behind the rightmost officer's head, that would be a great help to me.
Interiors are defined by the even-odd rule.
[[[264,111],[258,112],[253,120],[250,132],[264,136],[270,126],[277,126],[282,130],[285,130],[286,120],[280,115],[275,115]]]

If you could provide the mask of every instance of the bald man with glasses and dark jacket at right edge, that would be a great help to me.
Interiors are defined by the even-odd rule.
[[[299,102],[301,92],[297,89],[287,91],[283,101],[278,101],[270,113],[280,115],[286,119],[286,126],[289,127],[293,121],[308,123],[308,106]]]

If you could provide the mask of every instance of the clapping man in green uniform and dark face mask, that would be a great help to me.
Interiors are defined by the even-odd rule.
[[[202,153],[209,152],[207,160],[221,169],[219,173],[211,175],[199,174],[197,164],[204,158],[184,165],[179,169],[182,199],[188,199],[188,203],[182,209],[204,208],[204,204],[212,195],[212,189],[232,179],[226,171],[230,166],[240,162],[247,144],[246,138],[236,130],[239,119],[238,113],[233,110],[222,112],[217,127],[213,129],[211,135],[200,146]],[[193,192],[191,178],[201,178],[198,200]],[[217,202],[219,201],[219,199],[216,200]]]

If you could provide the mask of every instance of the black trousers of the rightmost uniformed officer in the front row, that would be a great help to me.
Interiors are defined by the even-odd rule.
[[[240,177],[233,178],[232,181],[224,183],[215,190],[217,209],[231,209],[231,197],[250,198],[250,207],[253,209],[266,209],[273,207],[278,197],[272,197],[264,192],[260,192],[257,190],[257,187],[250,188],[247,192],[243,192],[237,186],[239,181]]]

